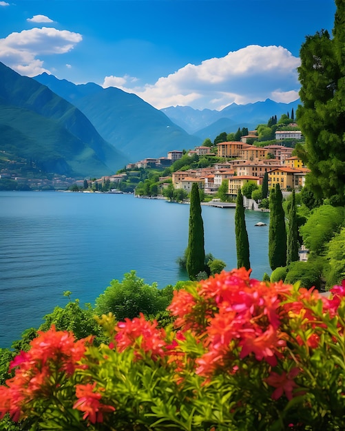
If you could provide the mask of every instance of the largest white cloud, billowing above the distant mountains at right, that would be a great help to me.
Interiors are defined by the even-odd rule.
[[[300,59],[281,46],[250,45],[220,59],[187,64],[154,85],[135,87],[125,77],[107,76],[103,86],[134,92],[158,109],[170,105],[222,109],[233,102],[245,104],[266,98],[287,103],[298,98],[299,65]]]

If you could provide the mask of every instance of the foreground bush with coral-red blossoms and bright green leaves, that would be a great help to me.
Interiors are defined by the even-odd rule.
[[[344,430],[345,283],[331,297],[233,270],[187,284],[174,327],[54,327],[10,365],[0,414],[25,430]]]

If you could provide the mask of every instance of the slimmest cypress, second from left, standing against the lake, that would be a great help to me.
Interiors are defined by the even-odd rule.
[[[243,196],[241,189],[238,190],[235,211],[235,233],[236,233],[236,252],[237,267],[250,269],[249,262],[249,240],[244,216]]]

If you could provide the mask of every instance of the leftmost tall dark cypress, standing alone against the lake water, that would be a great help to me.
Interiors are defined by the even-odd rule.
[[[191,187],[186,266],[191,280],[196,280],[196,275],[205,271],[204,223],[202,222],[199,188],[196,182]]]

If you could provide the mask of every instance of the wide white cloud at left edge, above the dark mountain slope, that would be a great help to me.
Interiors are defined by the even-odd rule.
[[[0,39],[0,61],[26,76],[48,72],[39,56],[65,54],[82,41],[79,33],[56,28],[32,28]]]

